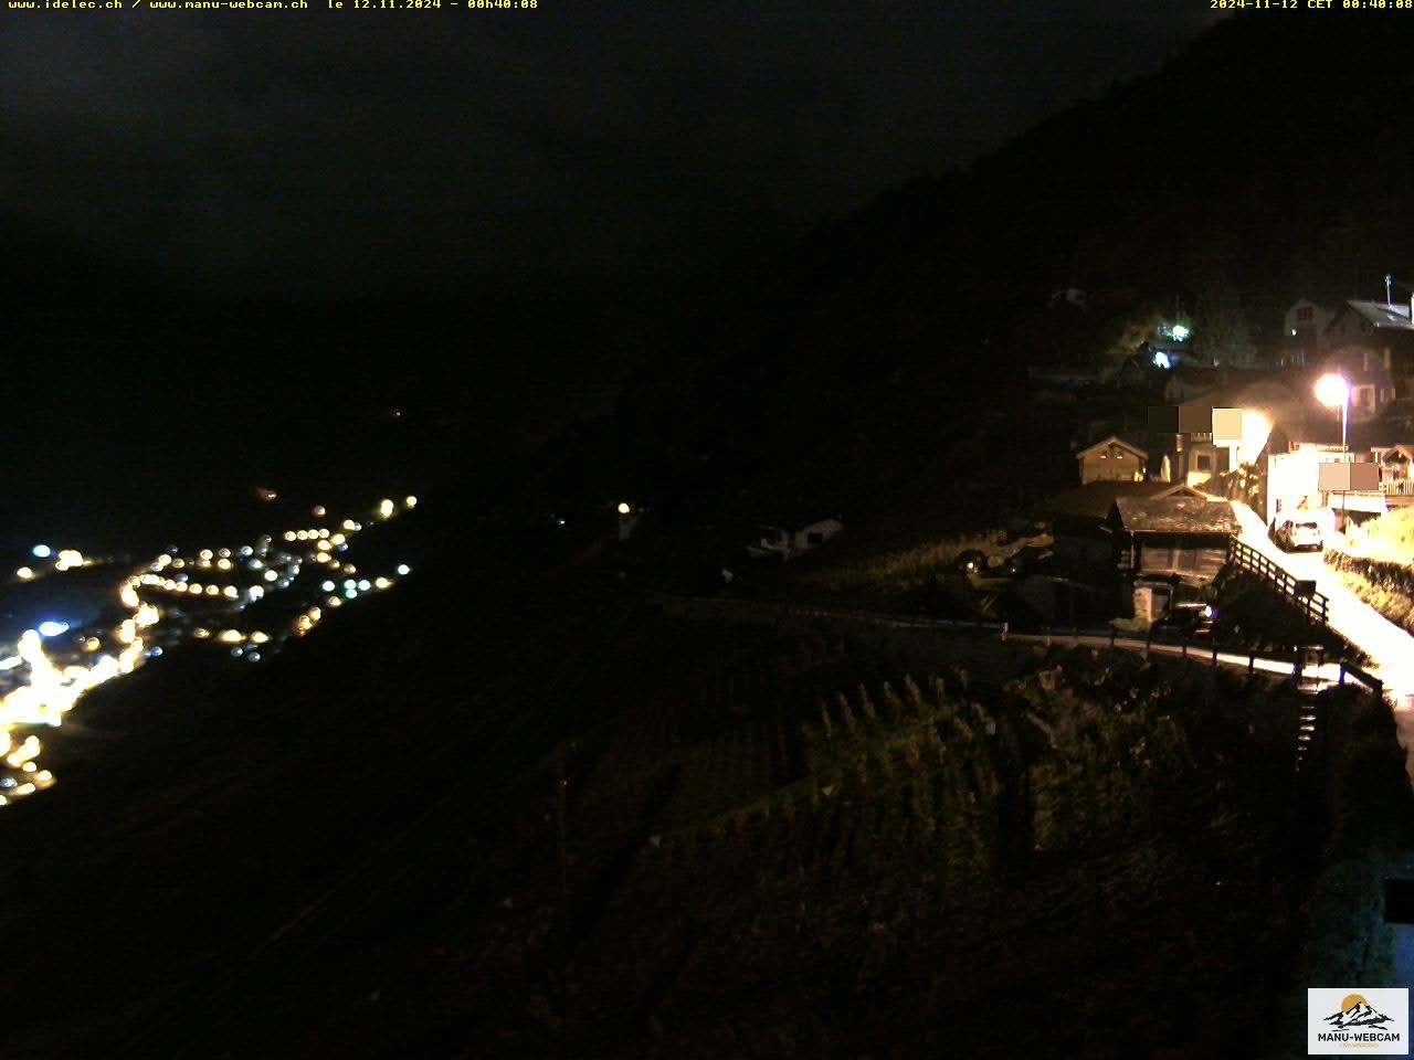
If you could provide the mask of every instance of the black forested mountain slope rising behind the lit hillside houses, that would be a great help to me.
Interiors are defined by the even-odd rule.
[[[1414,23],[1328,16],[1222,23],[819,228],[636,376],[619,465],[860,503],[877,475],[936,481],[995,451],[1005,431],[969,440],[1015,420],[1028,363],[1092,356],[1175,300],[1236,294],[1270,348],[1302,293],[1383,297],[1384,273],[1414,274]],[[1087,310],[1048,308],[1065,287]]]

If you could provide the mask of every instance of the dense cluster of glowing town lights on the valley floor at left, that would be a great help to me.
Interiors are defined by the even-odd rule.
[[[385,522],[416,505],[414,496],[402,502],[383,499],[370,519]],[[312,514],[324,519],[327,509],[318,505]],[[288,530],[283,534],[284,547],[267,534],[235,550],[202,548],[181,555],[173,548],[119,582],[117,599],[126,615],[113,629],[71,630],[68,622],[51,619],[25,630],[11,646],[13,654],[0,649],[0,684],[8,688],[0,697],[0,807],[54,783],[54,775],[38,766],[40,738],[30,734],[16,743],[16,731],[59,725],[85,693],[163,654],[163,643],[209,640],[233,656],[260,661],[262,652],[307,635],[328,611],[363,594],[389,589],[411,572],[407,564],[399,564],[392,575],[368,577],[344,561],[342,554],[362,530],[362,522],[345,519],[337,526]],[[96,563],[76,550],[42,544],[34,547],[33,555],[44,564],[40,570],[21,567],[16,572],[21,581]],[[325,595],[318,603],[304,606],[283,629],[239,628],[240,612],[270,592],[290,589],[304,570],[324,572],[320,591]],[[45,649],[45,639],[65,633],[72,635],[69,650]]]

